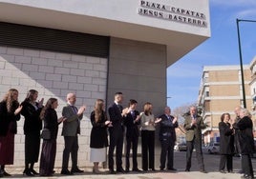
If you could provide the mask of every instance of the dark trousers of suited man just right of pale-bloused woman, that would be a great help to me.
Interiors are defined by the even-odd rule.
[[[170,140],[160,141],[160,169],[165,168],[167,155],[167,169],[173,169],[174,142]]]

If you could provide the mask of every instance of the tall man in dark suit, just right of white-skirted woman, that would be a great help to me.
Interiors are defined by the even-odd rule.
[[[123,96],[121,92],[115,94],[115,102],[108,109],[110,121],[112,122],[113,127],[109,128],[110,134],[110,146],[109,146],[109,170],[110,173],[115,173],[114,170],[114,150],[116,149],[116,165],[117,172],[124,172],[122,168],[122,145],[123,145],[123,116],[126,111],[122,109],[120,105],[122,103]]]

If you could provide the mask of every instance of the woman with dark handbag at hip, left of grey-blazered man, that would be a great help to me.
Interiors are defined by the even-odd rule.
[[[51,132],[51,139],[43,140],[39,169],[41,176],[52,176],[54,172],[58,125],[65,120],[63,117],[57,118],[55,111],[57,106],[57,99],[50,98],[40,114],[40,118],[44,121],[44,129],[49,129]]]

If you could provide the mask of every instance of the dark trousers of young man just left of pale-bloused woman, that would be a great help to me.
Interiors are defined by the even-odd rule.
[[[133,151],[133,169],[138,169],[137,162],[137,150],[138,150],[138,140],[139,136],[126,136],[126,155],[125,155],[125,169],[130,168],[130,150],[131,147]]]

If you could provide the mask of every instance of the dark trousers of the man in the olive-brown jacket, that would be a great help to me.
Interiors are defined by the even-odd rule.
[[[196,149],[196,155],[197,155],[198,164],[200,166],[200,169],[204,169],[201,139],[200,140],[194,139],[192,141],[186,141],[186,169],[191,168],[191,157],[192,157],[192,152],[193,152],[194,146]]]

